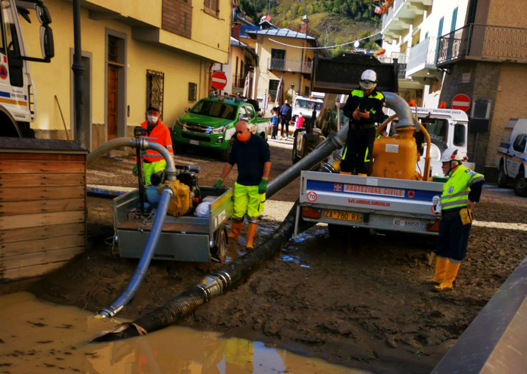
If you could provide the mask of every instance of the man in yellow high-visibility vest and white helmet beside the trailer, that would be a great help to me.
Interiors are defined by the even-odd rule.
[[[435,272],[432,278],[427,279],[428,283],[437,283],[435,291],[452,290],[469,244],[471,209],[480,201],[485,183],[483,174],[463,166],[461,162],[465,159],[455,147],[447,148],[441,156],[443,173],[449,178],[443,185],[441,196],[433,198],[434,211],[442,214],[435,249]]]

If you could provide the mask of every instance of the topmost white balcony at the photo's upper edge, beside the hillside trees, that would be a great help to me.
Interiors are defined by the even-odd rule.
[[[414,18],[424,14],[433,0],[394,0],[383,16],[380,32],[387,38],[397,38],[408,33]]]

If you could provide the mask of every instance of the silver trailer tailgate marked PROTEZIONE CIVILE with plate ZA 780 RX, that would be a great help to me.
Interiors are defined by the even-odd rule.
[[[317,222],[330,236],[343,226],[437,235],[432,198],[442,191],[440,182],[302,171],[295,235]]]

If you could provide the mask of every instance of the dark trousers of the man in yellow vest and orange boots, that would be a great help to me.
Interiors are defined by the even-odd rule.
[[[469,244],[470,228],[472,223],[463,224],[459,209],[448,212],[443,211],[443,218],[439,224],[439,237],[435,254],[439,257],[461,261],[466,256],[466,247]]]

